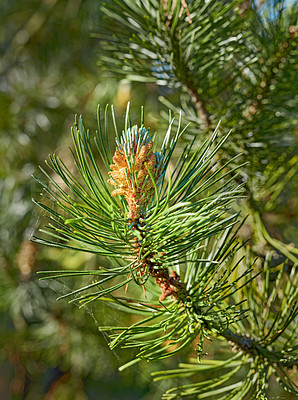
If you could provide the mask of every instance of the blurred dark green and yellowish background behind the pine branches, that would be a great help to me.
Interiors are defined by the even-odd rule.
[[[134,110],[145,105],[152,128],[159,116],[154,84],[101,77],[100,48],[91,35],[101,23],[99,5],[96,0],[0,3],[1,400],[159,399],[170,383],[153,384],[150,372],[177,365],[177,359],[141,363],[118,373],[129,354],[111,352],[98,324],[129,316],[103,306],[85,312],[57,302],[66,288],[36,276],[41,269],[92,267],[100,261],[29,241],[42,222],[31,201],[40,187],[31,175],[39,176],[38,165],[44,166],[48,153],[67,161],[74,114],[83,114],[86,125],[95,128],[98,103],[113,103],[123,119],[131,100]],[[215,342],[207,351],[219,356],[224,349]],[[272,383],[272,393],[277,390]]]

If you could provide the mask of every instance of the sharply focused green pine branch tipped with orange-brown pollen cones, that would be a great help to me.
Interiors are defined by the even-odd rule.
[[[286,282],[282,281],[285,267],[271,270],[270,259],[264,264],[265,272],[259,273],[249,252],[236,261],[234,256],[241,253],[243,244],[237,237],[241,225],[231,203],[243,196],[243,185],[235,179],[241,165],[231,168],[233,160],[223,166],[214,161],[229,137],[218,139],[216,129],[208,141],[197,146],[194,136],[180,155],[175,155],[185,129],[180,121],[172,134],[170,118],[161,148],[155,151],[155,140],[143,119],[140,127],[132,126],[127,109],[125,128],[119,135],[112,110],[117,145],[112,156],[107,118],[108,108],[102,124],[99,109],[94,140],[82,119],[76,121],[72,133],[75,172],[58,156],[50,156],[49,166],[63,184],[43,170],[50,184],[38,180],[44,187],[45,200],[37,204],[47,212],[50,223],[41,230],[42,237],[35,237],[47,245],[105,256],[106,265],[93,271],[46,272],[42,279],[92,276],[90,284],[60,299],[71,297],[71,302],[81,306],[104,301],[140,316],[132,326],[101,328],[110,332],[112,349],[122,346],[138,350],[121,370],[142,359],[172,357],[189,349],[194,340],[198,341],[199,361],[205,339],[219,337],[233,344],[237,356],[225,362],[213,360],[206,368],[232,371],[211,381],[170,390],[165,399],[226,392],[228,395],[222,398],[244,398],[246,393],[265,396],[271,374],[296,393],[286,372],[297,362],[291,330],[297,317],[295,268],[291,268]],[[100,164],[105,167],[100,168]],[[170,165],[174,165],[173,171]],[[274,287],[270,284],[272,274],[278,275]],[[143,287],[143,298],[124,295],[124,287],[133,282]],[[278,304],[283,282],[287,301]],[[278,307],[277,316],[271,307]],[[261,308],[265,314],[258,320],[255,312]],[[204,372],[204,358],[202,362],[181,365],[181,370],[162,372],[155,379]],[[251,370],[246,379],[225,385],[247,365]],[[254,372],[256,378],[252,379],[256,368],[258,373]],[[223,385],[220,389],[211,390],[219,384]]]

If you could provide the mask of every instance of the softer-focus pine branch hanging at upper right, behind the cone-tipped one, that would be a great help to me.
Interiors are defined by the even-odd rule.
[[[160,101],[182,109],[203,140],[219,120],[233,129],[220,157],[249,160],[240,181],[256,240],[297,262],[297,251],[272,238],[263,220],[297,173],[297,3],[124,0],[104,3],[102,12],[103,70],[172,88]]]

